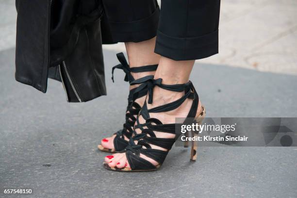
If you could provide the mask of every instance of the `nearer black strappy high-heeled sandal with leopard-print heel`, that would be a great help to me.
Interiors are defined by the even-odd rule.
[[[121,153],[125,152],[127,160],[131,168],[117,168],[117,167],[109,167],[107,163],[103,163],[103,166],[109,170],[115,171],[152,171],[158,169],[164,162],[165,157],[167,156],[169,150],[172,148],[176,138],[157,138],[154,131],[157,132],[167,132],[167,133],[175,133],[175,124],[162,124],[162,122],[156,118],[151,118],[149,113],[159,113],[159,112],[167,112],[178,108],[186,99],[193,99],[193,103],[191,109],[187,115],[187,118],[193,118],[198,124],[201,124],[204,116],[205,109],[202,106],[202,112],[200,115],[196,117],[198,110],[198,94],[192,84],[192,82],[187,82],[185,84],[174,84],[174,85],[166,85],[162,84],[162,79],[153,79],[153,76],[147,76],[143,79],[138,79],[131,84],[142,83],[135,91],[141,91],[143,89],[148,89],[148,103],[152,103],[152,90],[154,86],[159,86],[163,89],[170,91],[177,91],[185,93],[180,99],[170,102],[165,105],[161,105],[152,109],[147,108],[147,103],[144,103],[139,115],[136,118],[136,124],[134,125],[133,136],[130,138],[129,146],[125,148]],[[147,101],[147,100],[146,100]],[[142,116],[146,122],[143,124],[139,123],[139,116]],[[193,120],[193,121],[194,121]],[[144,127],[147,127],[146,129]],[[135,129],[140,129],[141,133],[136,133]],[[195,136],[195,133],[192,132],[192,136]],[[137,141],[137,144],[134,141]],[[161,148],[167,149],[167,151],[153,149],[150,145],[155,145]],[[186,144],[185,144],[186,147]],[[140,154],[143,154],[156,162],[159,165],[155,166],[140,157]],[[191,160],[195,161],[197,158],[197,142],[192,141],[191,148]]]

